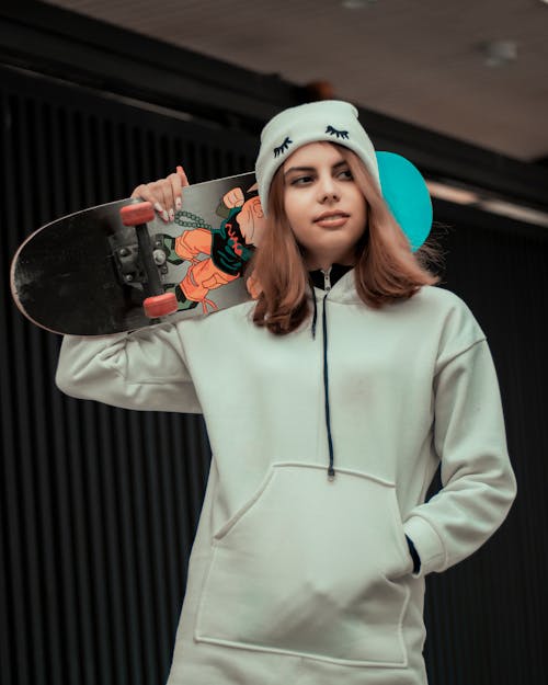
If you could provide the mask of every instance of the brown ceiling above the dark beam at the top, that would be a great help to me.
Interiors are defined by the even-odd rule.
[[[548,4],[541,0],[55,0],[52,4],[522,160],[548,156]],[[516,59],[479,46],[514,41]]]

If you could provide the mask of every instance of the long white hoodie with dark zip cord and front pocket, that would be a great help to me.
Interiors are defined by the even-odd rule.
[[[309,323],[275,336],[246,302],[64,341],[68,395],[205,416],[213,463],[170,685],[425,684],[424,575],[472,553],[514,499],[496,375],[466,305],[423,286],[375,310],[351,271],[323,330],[324,295],[315,336]],[[424,503],[439,460],[443,490]]]

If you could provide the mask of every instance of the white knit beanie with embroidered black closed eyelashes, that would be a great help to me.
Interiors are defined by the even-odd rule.
[[[261,133],[261,149],[255,162],[259,197],[269,210],[269,193],[276,169],[287,157],[308,142],[328,140],[351,149],[364,162],[380,189],[375,148],[357,121],[357,110],[340,100],[322,100],[284,110]]]

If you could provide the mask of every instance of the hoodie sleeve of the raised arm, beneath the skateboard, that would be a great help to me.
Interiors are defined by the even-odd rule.
[[[201,413],[176,324],[128,334],[66,336],[57,387],[123,409]]]

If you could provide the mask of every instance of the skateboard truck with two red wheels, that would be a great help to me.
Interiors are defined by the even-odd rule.
[[[142,301],[145,313],[150,319],[164,317],[178,310],[174,293],[164,293],[160,271],[167,272],[167,255],[161,249],[161,239],[150,239],[147,221],[155,219],[155,209],[149,202],[136,202],[119,210],[125,227],[135,227],[133,231],[122,230],[112,239],[112,246],[124,283],[141,284],[148,296]],[[137,242],[135,242],[137,238]]]

